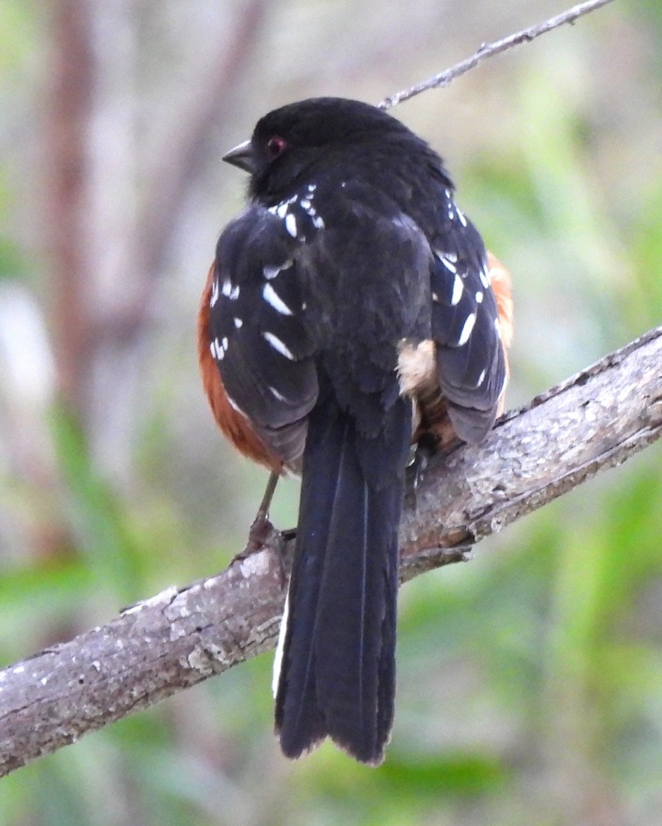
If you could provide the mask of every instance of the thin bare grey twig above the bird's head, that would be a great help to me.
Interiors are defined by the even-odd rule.
[[[528,29],[522,29],[522,31],[517,31],[514,35],[504,37],[502,40],[495,40],[493,43],[483,43],[474,55],[461,60],[460,63],[451,66],[450,69],[446,69],[444,72],[435,74],[431,78],[427,78],[427,80],[422,80],[421,83],[417,83],[415,86],[404,89],[402,92],[395,93],[389,97],[384,97],[383,101],[378,103],[378,106],[381,109],[390,109],[393,106],[397,106],[398,103],[408,101],[410,98],[420,95],[421,92],[426,92],[428,89],[448,86],[451,81],[459,78],[462,74],[466,74],[469,72],[469,69],[474,69],[481,61],[493,57],[493,55],[499,55],[508,49],[512,49],[513,46],[530,43],[531,40],[536,40],[536,37],[540,37],[553,29],[558,29],[559,26],[563,26],[564,23],[574,23],[574,21],[579,20],[579,17],[583,17],[583,15],[589,12],[594,12],[601,6],[606,6],[608,2],[612,2],[612,0],[588,0],[588,2],[578,3],[577,6],[573,6],[565,12],[557,14],[555,17],[550,17],[549,20],[537,23],[536,26],[529,26]]]

